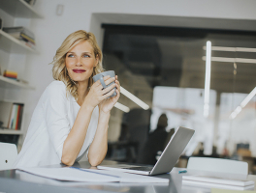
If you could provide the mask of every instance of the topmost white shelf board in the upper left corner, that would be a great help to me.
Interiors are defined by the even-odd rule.
[[[0,8],[8,14],[22,18],[44,18],[24,0],[0,0]]]

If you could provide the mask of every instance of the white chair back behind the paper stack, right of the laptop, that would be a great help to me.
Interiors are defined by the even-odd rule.
[[[190,157],[188,159],[187,169],[248,175],[248,163],[246,162],[211,157]]]

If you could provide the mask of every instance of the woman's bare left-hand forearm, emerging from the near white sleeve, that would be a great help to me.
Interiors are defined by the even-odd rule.
[[[63,145],[62,163],[66,165],[74,164],[83,145],[93,109],[88,105],[82,105],[80,107],[76,121]]]

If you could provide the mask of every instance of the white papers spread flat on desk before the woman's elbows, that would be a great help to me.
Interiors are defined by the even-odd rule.
[[[169,179],[155,177],[145,177],[142,175],[124,174],[113,171],[100,171],[92,169],[80,169],[73,167],[66,168],[26,168],[20,167],[18,170],[45,177],[48,179],[83,181],[83,182],[149,182],[168,183]]]

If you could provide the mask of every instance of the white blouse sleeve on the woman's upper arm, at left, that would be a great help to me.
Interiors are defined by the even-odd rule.
[[[66,86],[63,82],[52,82],[46,91],[44,113],[50,142],[59,159],[62,157],[64,142],[70,132]]]

